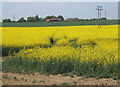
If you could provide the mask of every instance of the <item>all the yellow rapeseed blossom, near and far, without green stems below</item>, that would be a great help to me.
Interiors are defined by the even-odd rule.
[[[103,58],[108,57],[109,63],[111,61],[110,55],[115,55],[117,62],[118,41],[110,41],[118,38],[117,25],[102,26],[102,28],[97,26],[2,28],[3,47],[50,46],[52,45],[50,38],[56,41],[52,48],[25,49],[17,55],[27,58],[43,58],[44,60],[62,59],[64,56],[68,56],[69,58],[80,58],[84,61],[99,60],[99,58],[103,60]],[[76,44],[75,42],[82,48],[72,47],[71,45]],[[89,47],[84,47],[86,46],[84,44],[88,44]],[[98,45],[93,49],[92,44]]]

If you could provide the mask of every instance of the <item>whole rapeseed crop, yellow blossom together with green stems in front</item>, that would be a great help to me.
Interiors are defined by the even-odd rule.
[[[14,58],[14,61],[11,60],[15,67],[18,64],[19,68],[31,66],[36,71],[46,73],[73,71],[82,75],[93,75],[94,72],[103,77],[116,76],[120,60],[118,25],[106,25],[102,28],[96,25],[3,27],[2,46],[4,54],[11,51],[14,52],[14,58],[20,58],[20,61]],[[21,61],[25,63],[20,63]],[[36,61],[40,64],[35,63]]]

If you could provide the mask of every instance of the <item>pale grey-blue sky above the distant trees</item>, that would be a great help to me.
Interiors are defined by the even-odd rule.
[[[64,18],[97,18],[96,5],[102,5],[102,17],[118,18],[117,2],[2,2],[2,18],[63,15]],[[0,5],[1,6],[1,5]]]

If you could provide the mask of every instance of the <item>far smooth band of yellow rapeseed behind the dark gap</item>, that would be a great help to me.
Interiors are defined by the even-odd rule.
[[[49,38],[59,39],[56,44],[70,44],[96,38],[118,38],[118,25],[67,26],[67,27],[3,27],[2,46],[29,46],[35,44],[50,45]],[[66,37],[66,38],[65,38]]]

